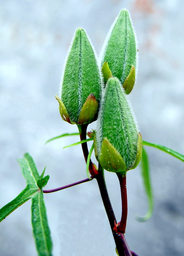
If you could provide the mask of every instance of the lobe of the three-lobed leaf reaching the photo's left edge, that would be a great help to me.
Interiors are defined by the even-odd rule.
[[[30,189],[29,185],[27,185],[26,188],[16,198],[14,198],[11,202],[0,209],[0,222],[4,220],[10,213],[16,210],[19,206],[28,201],[37,192],[38,187]]]

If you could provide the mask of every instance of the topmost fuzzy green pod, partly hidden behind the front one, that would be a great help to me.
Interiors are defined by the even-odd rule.
[[[131,92],[135,83],[136,55],[135,33],[130,15],[123,9],[112,24],[104,42],[101,66],[105,61],[108,62],[113,77],[121,81],[126,94]]]

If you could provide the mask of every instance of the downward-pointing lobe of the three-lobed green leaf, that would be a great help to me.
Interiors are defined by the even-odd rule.
[[[52,255],[52,240],[47,221],[43,191],[32,198],[32,226],[39,256]]]

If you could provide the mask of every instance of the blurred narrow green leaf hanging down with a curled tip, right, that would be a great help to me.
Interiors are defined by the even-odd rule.
[[[150,179],[150,170],[149,170],[149,162],[147,153],[143,147],[142,149],[142,159],[141,159],[141,168],[142,168],[142,178],[144,183],[144,188],[148,197],[148,212],[143,217],[137,217],[139,221],[146,221],[148,220],[152,213],[153,213],[153,192],[151,187],[151,179]]]

